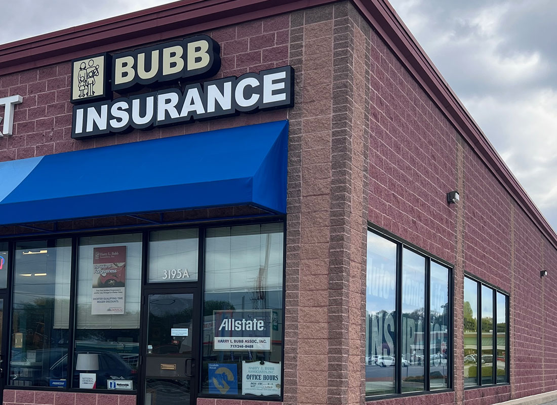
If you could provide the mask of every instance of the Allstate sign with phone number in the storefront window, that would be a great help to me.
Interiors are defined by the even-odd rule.
[[[271,350],[272,311],[213,311],[213,350]]]

